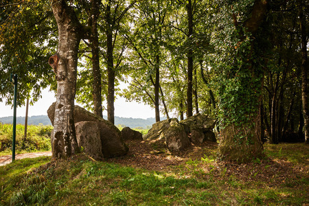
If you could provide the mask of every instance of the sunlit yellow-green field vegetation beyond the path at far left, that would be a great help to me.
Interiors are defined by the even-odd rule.
[[[16,145],[17,154],[27,152],[40,152],[51,150],[50,133],[52,126],[28,125],[27,138],[24,139],[25,126],[23,124],[16,125]],[[12,154],[12,124],[0,123],[0,156]]]

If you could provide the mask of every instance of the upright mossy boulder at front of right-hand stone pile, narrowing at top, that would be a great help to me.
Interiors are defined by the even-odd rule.
[[[161,135],[165,138],[165,144],[168,146],[168,150],[177,152],[189,147],[191,144],[183,125],[179,124],[177,119],[171,120],[168,128],[163,130]]]

